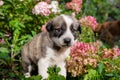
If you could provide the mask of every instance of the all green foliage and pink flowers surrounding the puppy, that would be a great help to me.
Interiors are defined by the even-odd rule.
[[[82,28],[66,59],[66,80],[120,80],[120,48],[101,45],[92,31],[99,23],[120,20],[120,0],[0,0],[0,80],[26,80],[22,46],[60,14],[76,17]],[[48,68],[47,80],[65,80],[59,71]]]

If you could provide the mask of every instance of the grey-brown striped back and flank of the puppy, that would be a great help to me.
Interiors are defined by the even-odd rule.
[[[22,60],[26,63],[37,63],[37,61],[45,56],[45,47],[48,45],[47,33],[42,32],[33,37],[28,43],[26,43],[22,48]]]

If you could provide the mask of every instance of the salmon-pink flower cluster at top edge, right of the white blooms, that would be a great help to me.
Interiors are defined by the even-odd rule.
[[[72,0],[71,2],[66,3],[67,9],[72,9],[76,13],[80,12],[82,7],[82,0]]]

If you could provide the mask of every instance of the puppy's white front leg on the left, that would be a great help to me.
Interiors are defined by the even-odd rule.
[[[47,73],[48,67],[49,67],[48,59],[42,58],[38,61],[38,74],[41,75],[43,79],[48,78],[48,73]]]

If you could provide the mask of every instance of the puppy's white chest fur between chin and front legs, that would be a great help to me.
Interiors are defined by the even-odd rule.
[[[70,48],[60,52],[55,51],[49,47],[47,47],[47,50],[46,50],[46,58],[52,62],[52,65],[64,62],[65,59],[69,57],[69,54],[70,54]]]

